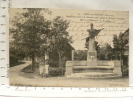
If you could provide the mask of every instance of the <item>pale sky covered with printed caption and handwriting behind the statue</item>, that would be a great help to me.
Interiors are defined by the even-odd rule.
[[[128,11],[109,11],[109,10],[78,10],[78,9],[49,9],[51,15],[43,13],[44,18],[52,20],[56,16],[62,16],[70,21],[67,31],[72,36],[71,44],[75,50],[86,50],[85,38],[88,37],[87,29],[93,23],[94,29],[104,28],[95,38],[102,46],[109,43],[111,46],[113,34],[125,32],[129,28]],[[13,18],[16,12],[22,12],[22,9],[10,9],[10,18]]]

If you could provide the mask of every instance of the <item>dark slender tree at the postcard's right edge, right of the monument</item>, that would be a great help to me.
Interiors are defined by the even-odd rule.
[[[116,34],[113,37],[113,45],[114,45],[114,52],[116,56],[119,56],[121,62],[121,71],[123,76],[123,56],[124,52],[126,51],[126,44],[128,43],[128,38],[125,38],[125,34],[129,34],[129,29],[127,29],[124,33],[120,32],[117,36]]]

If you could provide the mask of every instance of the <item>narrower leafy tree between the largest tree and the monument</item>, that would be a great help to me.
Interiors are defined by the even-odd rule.
[[[59,55],[59,67],[62,67],[62,58],[63,54],[68,48],[68,43],[72,42],[72,38],[69,36],[67,32],[69,22],[64,20],[62,17],[57,16],[53,19],[51,32],[48,35],[49,38],[49,48],[48,51],[52,52],[54,50],[57,51]],[[63,67],[62,67],[63,74]]]

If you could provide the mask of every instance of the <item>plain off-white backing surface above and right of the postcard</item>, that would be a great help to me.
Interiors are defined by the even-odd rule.
[[[133,0],[12,0],[11,7],[129,11],[129,85],[133,86]]]

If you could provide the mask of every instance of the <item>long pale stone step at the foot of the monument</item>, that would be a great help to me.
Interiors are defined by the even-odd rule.
[[[98,72],[91,72],[91,73],[73,73],[70,77],[84,77],[84,78],[114,78],[120,77],[114,73],[98,73]]]

